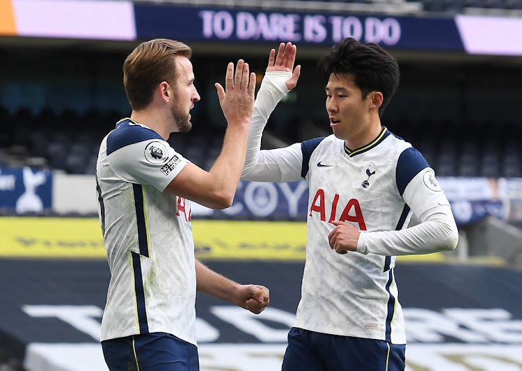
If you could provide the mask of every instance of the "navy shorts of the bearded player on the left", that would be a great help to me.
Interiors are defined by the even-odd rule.
[[[198,348],[169,333],[143,333],[102,341],[111,371],[199,371]]]

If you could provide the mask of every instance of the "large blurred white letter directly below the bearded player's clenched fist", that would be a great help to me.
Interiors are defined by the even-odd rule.
[[[248,333],[262,342],[286,342],[288,331],[295,322],[295,315],[277,308],[267,308],[262,316],[255,315],[237,306],[213,306],[210,311],[216,317],[232,324],[237,329]],[[288,326],[287,329],[274,329],[262,322],[262,319]]]

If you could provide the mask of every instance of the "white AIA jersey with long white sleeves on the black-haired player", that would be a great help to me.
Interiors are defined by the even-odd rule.
[[[327,136],[261,150],[268,117],[291,73],[267,72],[255,102],[243,180],[308,181],[306,264],[295,327],[406,343],[393,269],[396,255],[454,248],[457,226],[434,171],[410,143],[383,127],[363,148]],[[414,212],[422,221],[407,228]],[[329,245],[331,221],[361,231],[357,250]]]

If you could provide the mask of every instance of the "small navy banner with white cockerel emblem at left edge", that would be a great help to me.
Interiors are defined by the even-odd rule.
[[[0,209],[17,214],[52,208],[52,173],[47,170],[0,168]]]

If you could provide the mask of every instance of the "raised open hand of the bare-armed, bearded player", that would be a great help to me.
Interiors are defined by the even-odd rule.
[[[234,64],[228,63],[225,81],[224,89],[219,83],[215,86],[228,125],[250,123],[254,107],[255,73],[250,73],[248,63],[239,59],[235,74]]]

